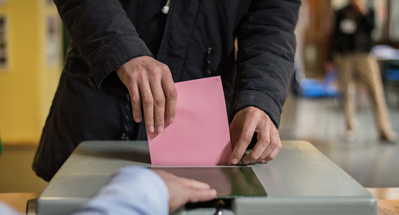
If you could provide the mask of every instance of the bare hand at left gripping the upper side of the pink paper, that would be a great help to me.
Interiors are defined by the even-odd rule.
[[[141,122],[142,106],[147,132],[162,133],[164,118],[171,124],[176,116],[177,90],[169,67],[149,56],[141,56],[116,72],[129,90],[134,120]]]

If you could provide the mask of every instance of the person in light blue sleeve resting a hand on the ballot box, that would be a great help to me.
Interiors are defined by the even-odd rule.
[[[72,214],[169,214],[187,202],[215,196],[215,189],[208,184],[163,170],[128,166],[118,170],[94,198]],[[18,213],[0,202],[0,214]]]

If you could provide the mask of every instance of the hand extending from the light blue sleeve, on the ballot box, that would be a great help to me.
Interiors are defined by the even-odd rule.
[[[174,212],[187,202],[203,202],[212,200],[216,196],[216,190],[209,184],[191,180],[185,177],[177,177],[164,170],[152,169],[165,182],[169,191],[169,212]]]

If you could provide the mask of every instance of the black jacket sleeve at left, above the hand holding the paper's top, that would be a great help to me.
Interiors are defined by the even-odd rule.
[[[63,23],[89,66],[89,82],[107,94],[126,92],[115,69],[152,56],[118,0],[54,0]]]

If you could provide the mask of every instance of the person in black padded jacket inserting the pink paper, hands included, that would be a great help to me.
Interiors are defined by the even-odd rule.
[[[81,141],[163,132],[164,120],[179,117],[174,81],[215,75],[231,122],[231,163],[254,134],[257,143],[243,162],[276,157],[299,0],[55,3],[72,44],[33,164],[44,180]],[[161,12],[165,4],[168,13]]]

